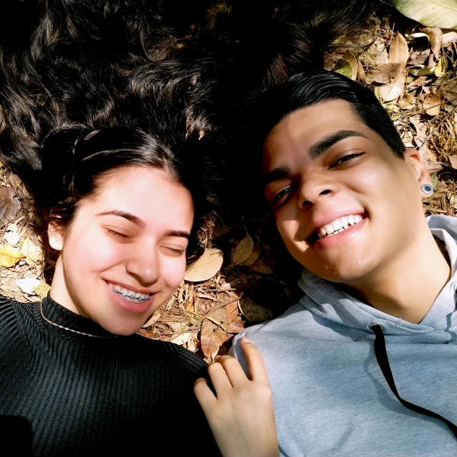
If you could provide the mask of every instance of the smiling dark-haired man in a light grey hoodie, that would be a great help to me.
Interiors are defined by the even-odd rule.
[[[247,336],[263,356],[281,455],[457,456],[457,221],[424,218],[418,152],[339,74],[293,76],[259,112],[264,194],[304,295],[232,353],[245,363]]]

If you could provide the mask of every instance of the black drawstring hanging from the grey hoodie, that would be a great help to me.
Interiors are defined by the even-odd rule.
[[[379,323],[371,323],[370,324],[371,330],[375,334],[374,340],[374,353],[376,355],[376,360],[378,361],[379,368],[383,372],[384,379],[388,383],[388,386],[391,388],[393,395],[398,398],[398,401],[405,406],[405,408],[414,411],[415,413],[423,414],[424,416],[433,417],[438,419],[438,421],[443,421],[446,425],[451,428],[452,433],[457,438],[457,426],[453,424],[448,419],[443,418],[438,413],[433,413],[433,411],[429,411],[426,408],[422,408],[422,406],[417,406],[414,403],[410,403],[409,401],[403,400],[399,395],[397,388],[395,386],[395,382],[393,381],[391,366],[388,363],[387,351],[386,351],[386,339],[384,338],[383,328]]]

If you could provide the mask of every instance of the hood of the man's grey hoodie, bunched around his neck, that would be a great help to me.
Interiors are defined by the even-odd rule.
[[[301,279],[298,281],[298,286],[305,293],[300,303],[322,318],[353,328],[368,330],[370,323],[381,323],[386,335],[450,330],[457,316],[455,298],[457,286],[457,218],[429,216],[427,222],[433,236],[443,241],[446,246],[451,261],[451,279],[443,287],[420,323],[403,321],[401,318],[383,313],[341,291],[336,283],[319,278],[306,269],[303,269]]]

